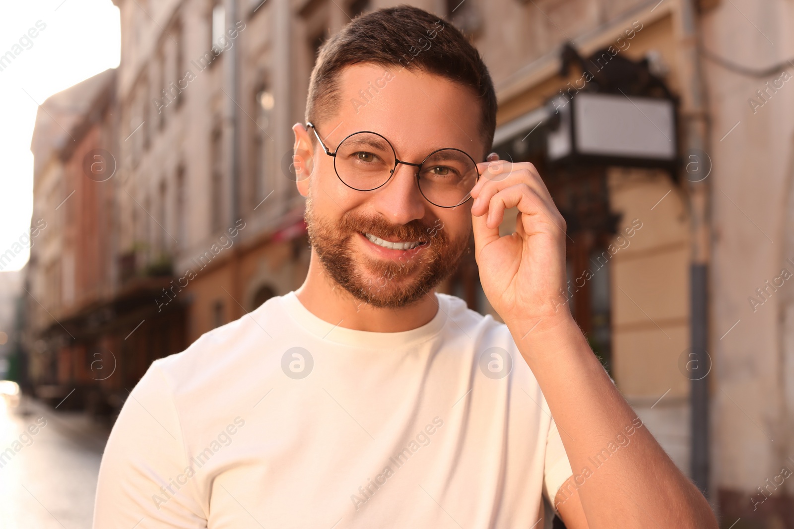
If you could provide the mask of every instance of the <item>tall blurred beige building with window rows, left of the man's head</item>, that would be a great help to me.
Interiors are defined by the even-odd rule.
[[[289,134],[313,57],[283,2],[116,3],[122,278],[167,271],[152,306],[183,306],[191,342],[305,275]]]

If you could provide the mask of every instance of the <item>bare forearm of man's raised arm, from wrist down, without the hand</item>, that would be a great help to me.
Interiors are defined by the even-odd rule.
[[[569,486],[561,487],[562,496],[571,489],[572,496],[558,493],[555,500],[566,526],[716,527],[700,491],[648,429],[635,426],[641,421],[576,323],[542,326],[524,339],[526,331],[508,328],[538,379],[574,473]]]

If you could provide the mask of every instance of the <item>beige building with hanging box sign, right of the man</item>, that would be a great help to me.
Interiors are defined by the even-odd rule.
[[[723,527],[794,527],[791,6],[498,3],[495,150],[566,217],[576,320]]]

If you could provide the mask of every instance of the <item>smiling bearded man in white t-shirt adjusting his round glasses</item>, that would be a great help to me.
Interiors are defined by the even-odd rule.
[[[572,529],[716,527],[572,320],[537,171],[483,161],[495,110],[479,54],[423,10],[324,44],[293,127],[306,281],[152,364],[94,527],[549,527],[546,503]],[[472,231],[505,324],[435,292]]]

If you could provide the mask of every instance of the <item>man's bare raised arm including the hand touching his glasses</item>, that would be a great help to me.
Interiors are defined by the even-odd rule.
[[[573,320],[565,220],[538,171],[489,160],[478,164],[482,176],[472,190],[480,282],[561,432],[576,485],[569,490],[575,498],[558,505],[564,520],[577,529],[717,527],[703,495],[642,426]],[[505,209],[514,207],[516,231],[501,236]],[[587,523],[576,516],[579,500]]]

